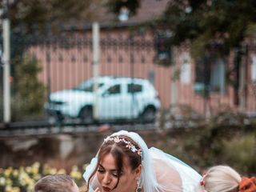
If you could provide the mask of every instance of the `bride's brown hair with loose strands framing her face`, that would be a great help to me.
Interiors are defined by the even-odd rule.
[[[111,137],[111,138],[115,138]],[[125,138],[127,141],[130,141],[136,149],[139,150],[139,146],[136,142],[134,142],[131,138],[126,137],[126,136],[118,136],[118,138]],[[90,178],[87,183],[87,189],[89,189],[89,183],[90,179],[94,176],[96,171],[98,170],[98,165],[102,161],[102,158],[106,156],[106,154],[112,154],[115,160],[115,166],[117,167],[117,172],[118,172],[118,182],[120,178],[120,174],[122,171],[122,166],[123,166],[123,159],[125,157],[128,158],[130,168],[131,170],[135,170],[139,165],[142,163],[142,158],[138,153],[132,152],[130,148],[127,147],[127,144],[125,142],[114,142],[113,140],[107,140],[106,142],[103,142],[101,148],[98,151],[98,162],[97,166],[95,167],[93,173],[90,175]],[[114,186],[114,189],[118,186],[117,184]]]

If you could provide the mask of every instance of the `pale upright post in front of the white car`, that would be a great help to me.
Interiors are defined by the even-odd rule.
[[[98,119],[99,25],[93,23],[94,119]]]

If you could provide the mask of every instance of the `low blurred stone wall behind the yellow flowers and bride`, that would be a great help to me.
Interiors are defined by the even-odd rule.
[[[0,167],[30,166],[33,162],[47,163],[70,169],[90,162],[104,138],[111,134],[53,134],[45,136],[0,137]],[[158,131],[138,132],[149,146],[161,146],[165,136]]]

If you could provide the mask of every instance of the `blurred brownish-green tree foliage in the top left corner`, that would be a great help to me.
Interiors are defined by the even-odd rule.
[[[93,20],[101,4],[100,0],[14,0],[9,6],[11,28],[25,34],[58,30],[60,26]]]

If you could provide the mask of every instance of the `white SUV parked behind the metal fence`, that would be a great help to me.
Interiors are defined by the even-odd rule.
[[[80,118],[83,122],[94,121],[95,101],[100,121],[140,118],[152,122],[160,108],[158,92],[146,79],[106,76],[98,78],[96,95],[93,87],[94,78],[90,78],[72,90],[51,93],[45,108],[58,118]]]

